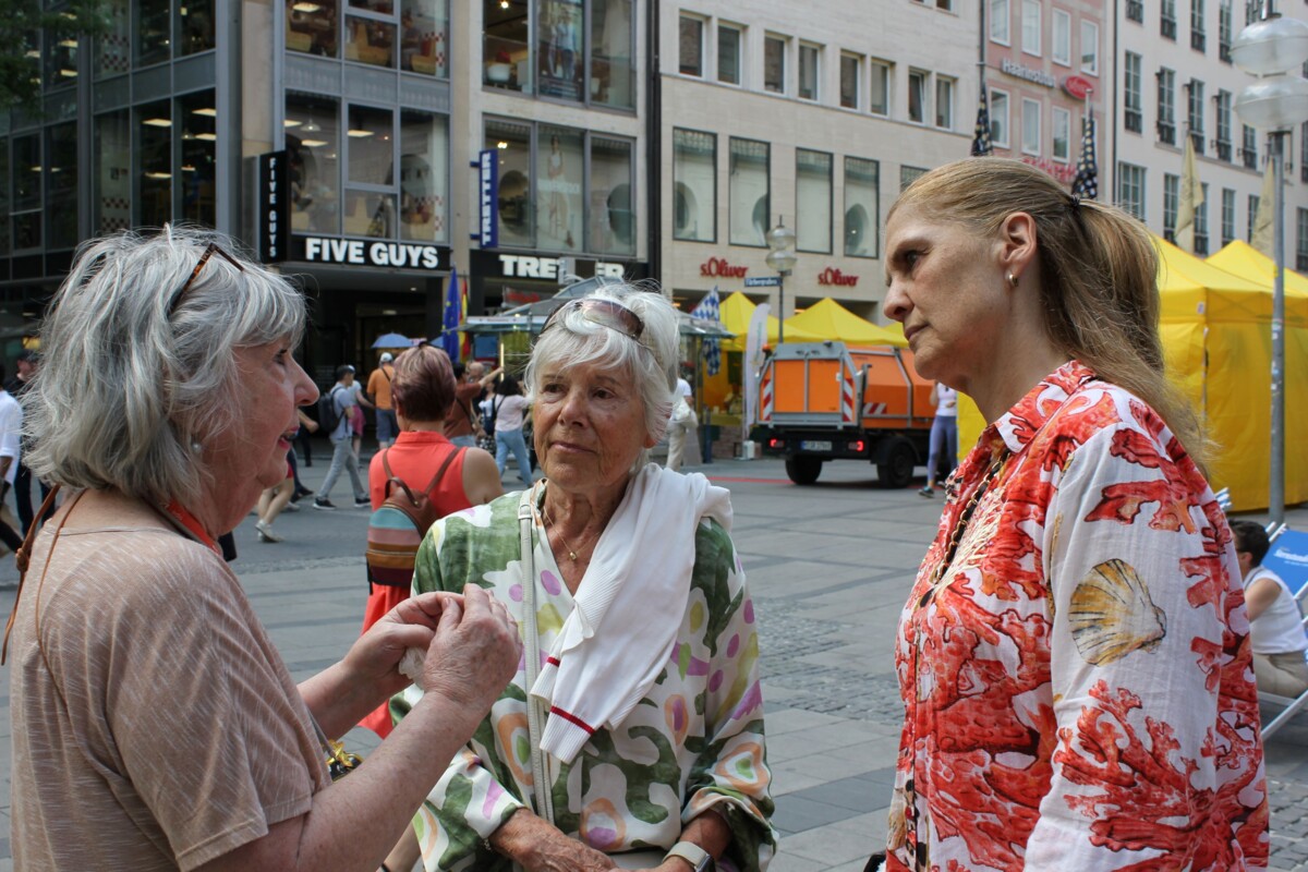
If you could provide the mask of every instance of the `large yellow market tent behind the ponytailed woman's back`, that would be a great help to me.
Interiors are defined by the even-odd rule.
[[[1241,243],[1243,244],[1243,243]],[[1158,239],[1159,329],[1168,371],[1215,443],[1214,489],[1236,510],[1267,506],[1271,280],[1222,269]],[[1230,246],[1228,246],[1230,247]],[[1241,264],[1239,250],[1219,263]],[[1254,252],[1257,254],[1257,252]],[[1308,293],[1286,293],[1286,501],[1308,499]]]

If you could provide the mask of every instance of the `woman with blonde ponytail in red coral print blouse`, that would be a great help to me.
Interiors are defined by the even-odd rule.
[[[887,316],[989,424],[900,622],[888,868],[1265,868],[1239,563],[1148,231],[971,158],[886,237]]]

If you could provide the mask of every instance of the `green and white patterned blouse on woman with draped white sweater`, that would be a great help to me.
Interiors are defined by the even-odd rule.
[[[417,554],[413,592],[476,582],[525,628],[518,501],[511,493],[437,522]],[[542,660],[573,607],[539,512],[532,560]],[[572,765],[551,758],[555,824],[607,854],[667,850],[713,808],[731,828],[718,868],[766,868],[776,850],[764,750],[759,635],[731,537],[700,524],[691,597],[667,668],[617,729],[600,728]],[[658,608],[650,603],[650,608]],[[483,839],[532,805],[526,663],[415,818],[426,869],[508,872]],[[403,716],[416,686],[391,701]]]

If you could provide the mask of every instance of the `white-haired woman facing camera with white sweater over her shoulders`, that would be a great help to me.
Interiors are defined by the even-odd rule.
[[[564,303],[527,366],[545,478],[450,515],[415,591],[480,584],[527,654],[416,821],[428,869],[759,871],[769,818],[759,637],[727,492],[647,464],[676,314],[608,286]],[[407,711],[413,688],[392,701]],[[400,720],[403,726],[404,720]]]

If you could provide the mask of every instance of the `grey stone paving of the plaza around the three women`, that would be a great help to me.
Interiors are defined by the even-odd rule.
[[[816,485],[790,484],[776,460],[718,460],[700,468],[731,489],[734,539],[761,633],[768,757],[782,833],[774,872],[858,872],[884,842],[903,707],[891,656],[900,608],[935,529],[940,499],[916,489],[880,490],[870,465],[828,464]],[[313,488],[326,458],[302,469]],[[514,486],[517,476],[505,476]],[[348,480],[332,494],[351,502]],[[297,679],[334,663],[358,633],[366,596],[368,512],[309,507],[276,523],[286,537],[263,544],[254,518],[237,531],[235,569]],[[1262,520],[1261,515],[1250,515]],[[1308,510],[1290,512],[1308,529]],[[17,573],[0,560],[0,609]],[[0,816],[9,813],[9,676],[0,669]],[[356,749],[375,744],[354,731]],[[1308,715],[1267,746],[1271,868],[1308,869]],[[0,872],[9,860],[8,820]],[[93,865],[88,865],[93,868]]]

